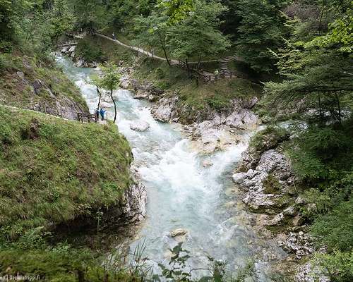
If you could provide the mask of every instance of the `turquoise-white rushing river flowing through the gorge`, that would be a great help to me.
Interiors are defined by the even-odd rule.
[[[57,62],[78,85],[93,113],[97,92],[88,76],[95,69],[77,68],[62,56]],[[116,123],[130,142],[148,192],[147,219],[131,248],[145,240],[145,255],[157,270],[157,263],[167,264],[168,249],[177,244],[169,233],[183,228],[188,231],[183,248],[190,251],[193,266],[205,266],[210,256],[227,262],[227,269],[236,273],[251,259],[256,272],[253,281],[270,281],[270,265],[277,261],[268,257],[285,254],[275,243],[258,238],[232,184],[232,171],[246,142],[205,157],[194,151],[182,135],[181,125],[155,121],[149,102],[133,99],[128,90],[117,90],[115,95]],[[114,109],[107,112],[114,116]],[[130,123],[137,120],[147,121],[150,128],[142,133],[131,130]],[[245,139],[249,140],[250,134],[244,133]],[[213,166],[203,167],[205,159]]]

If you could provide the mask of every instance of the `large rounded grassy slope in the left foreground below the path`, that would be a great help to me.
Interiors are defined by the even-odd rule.
[[[117,204],[129,185],[131,150],[115,125],[0,106],[0,152],[0,226],[8,238]]]

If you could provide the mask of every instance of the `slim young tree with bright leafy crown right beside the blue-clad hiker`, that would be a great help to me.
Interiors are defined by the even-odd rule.
[[[120,84],[120,74],[117,66],[114,63],[107,63],[105,66],[101,66],[102,68],[102,77],[98,84],[104,90],[110,92],[110,98],[114,103],[114,123],[116,121],[116,102],[113,96],[113,91],[119,87]]]

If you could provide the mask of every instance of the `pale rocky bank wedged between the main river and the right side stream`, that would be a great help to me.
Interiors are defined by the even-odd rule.
[[[121,68],[121,71],[124,73],[121,87],[133,90],[136,99],[154,102],[151,112],[157,121],[183,124],[185,135],[205,154],[237,144],[242,140],[239,130],[254,130],[261,124],[252,111],[258,102],[257,97],[232,99],[229,107],[222,111],[211,107],[201,111],[181,104],[175,92],[165,92],[151,82],[131,78],[131,68]]]

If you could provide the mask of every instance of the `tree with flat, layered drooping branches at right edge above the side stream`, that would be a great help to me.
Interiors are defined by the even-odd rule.
[[[278,66],[285,80],[265,85],[271,106],[301,104],[304,110],[316,109],[321,123],[326,120],[341,123],[345,112],[352,109],[353,68],[347,53],[303,47],[298,42],[282,50]]]

